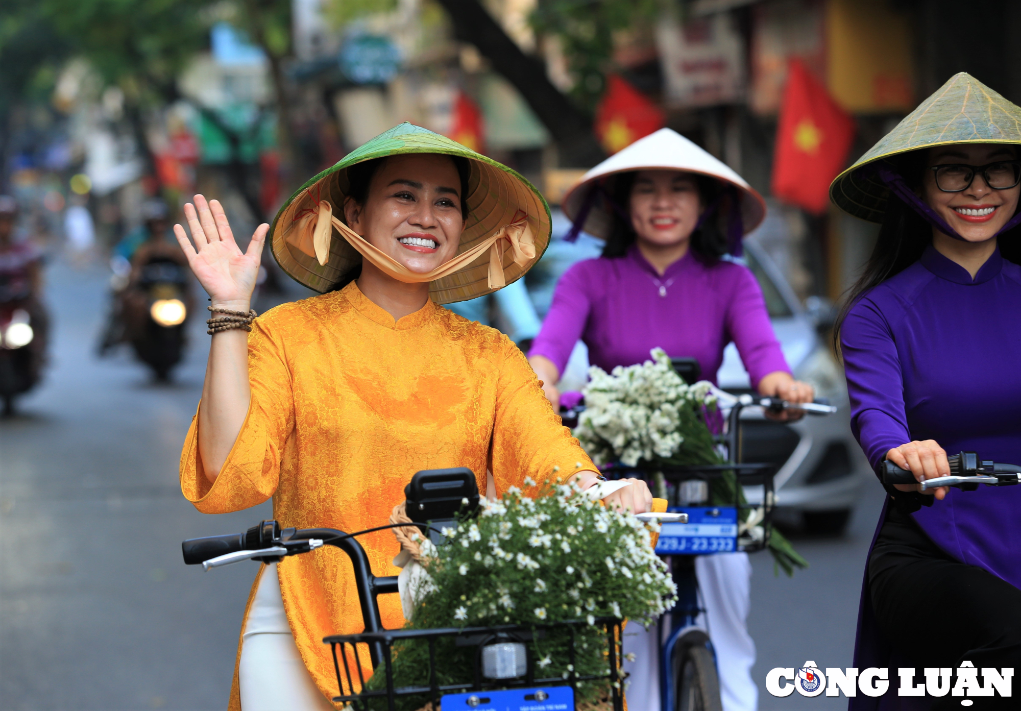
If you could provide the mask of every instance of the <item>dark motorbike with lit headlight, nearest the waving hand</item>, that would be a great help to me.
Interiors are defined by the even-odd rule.
[[[136,283],[123,292],[123,317],[128,340],[138,359],[166,381],[181,362],[188,319],[188,275],[180,263],[153,255]]]

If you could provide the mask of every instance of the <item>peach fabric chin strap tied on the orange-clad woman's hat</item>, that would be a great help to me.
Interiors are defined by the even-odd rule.
[[[333,205],[327,200],[320,200],[318,211],[308,212],[300,219],[297,229],[287,237],[287,241],[308,256],[314,256],[322,267],[330,260],[333,228],[336,228],[340,236],[347,240],[347,243],[354,247],[363,258],[371,262],[384,274],[405,284],[442,279],[468,267],[488,250],[489,288],[499,289],[506,286],[506,278],[503,275],[503,254],[507,247],[514,252],[515,264],[520,267],[527,266],[535,258],[535,238],[528,224],[528,215],[520,209],[515,212],[513,222],[504,225],[471,249],[457,254],[427,274],[412,272],[367,241],[361,235],[333,216]]]

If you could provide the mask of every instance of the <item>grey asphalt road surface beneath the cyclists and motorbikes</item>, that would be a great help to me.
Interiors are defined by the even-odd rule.
[[[127,352],[98,360],[105,280],[99,268],[48,270],[52,363],[20,413],[0,420],[0,709],[223,709],[254,564],[203,573],[183,565],[180,541],[243,530],[270,506],[207,516],[181,496],[178,459],[207,337],[194,323],[171,385]],[[809,659],[850,666],[876,488],[843,538],[795,540],[809,570],[777,577],[769,554],[753,557],[764,711],[845,708],[773,699],[763,679]]]

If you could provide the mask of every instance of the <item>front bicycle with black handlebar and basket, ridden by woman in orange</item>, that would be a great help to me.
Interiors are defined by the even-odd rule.
[[[375,575],[366,551],[356,537],[387,528],[416,526],[428,532],[430,538],[438,542],[443,537],[443,524],[452,525],[456,516],[471,514],[479,506],[475,475],[467,469],[418,472],[404,491],[407,500],[405,511],[411,523],[390,524],[345,533],[333,528],[282,529],[277,521],[262,521],[244,533],[185,540],[182,543],[185,563],[200,564],[203,569],[211,570],[245,560],[274,563],[284,557],[310,553],[324,546],[342,550],[350,559],[354,570],[364,630],[357,634],[329,635],[323,642],[331,647],[340,692],[333,701],[350,704],[358,711],[369,711],[374,708],[371,702],[383,699],[389,711],[394,711],[399,698],[410,696],[428,696],[432,708],[436,709],[442,704],[443,711],[484,711],[484,707],[478,708],[480,705],[514,709],[528,707],[533,711],[544,708],[553,711],[577,708],[578,683],[599,680],[610,682],[614,711],[623,711],[623,676],[619,654],[623,631],[621,619],[594,618],[605,633],[610,664],[607,673],[594,675],[574,671],[574,630],[590,624],[588,620],[568,620],[528,627],[513,624],[434,629],[383,627],[378,598],[398,592],[397,577]],[[467,507],[464,500],[468,500]],[[685,520],[680,514],[639,514],[638,518],[645,521],[666,519],[677,523]],[[539,673],[541,665],[533,659],[531,647],[527,643],[557,629],[569,635],[571,671],[566,676],[547,678]],[[471,682],[441,684],[437,681],[439,667],[436,646],[443,638],[451,638],[458,647],[476,648]],[[411,639],[425,639],[429,646],[430,683],[425,686],[401,686],[398,685],[400,680],[394,678],[394,645]],[[382,666],[386,689],[366,689],[367,679],[362,673],[361,653],[358,649],[360,645],[369,648],[369,661],[374,672]],[[356,686],[360,691],[355,692]]]

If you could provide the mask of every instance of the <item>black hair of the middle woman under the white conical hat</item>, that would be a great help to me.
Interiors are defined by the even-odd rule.
[[[617,176],[610,186],[609,199],[613,225],[610,229],[610,236],[606,244],[602,248],[602,255],[611,258],[624,256],[638,236],[631,226],[630,205],[631,189],[634,187],[637,173],[622,173]],[[698,190],[698,197],[703,207],[713,206],[716,215],[710,215],[694,232],[691,233],[690,246],[691,253],[707,265],[713,265],[720,260],[727,253],[727,235],[720,226],[719,215],[726,214],[723,204],[720,204],[720,193],[722,188],[720,181],[707,176],[691,175]],[[594,188],[598,189],[598,188]],[[603,196],[606,199],[606,196]],[[731,198],[732,199],[732,198]]]

